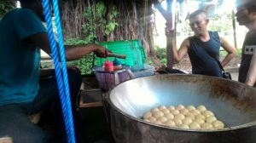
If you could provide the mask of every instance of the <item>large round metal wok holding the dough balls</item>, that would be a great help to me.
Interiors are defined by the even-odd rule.
[[[199,75],[155,75],[120,83],[107,97],[115,142],[256,142],[256,89],[235,81]],[[177,129],[144,122],[160,105],[204,105],[223,121],[218,130]]]

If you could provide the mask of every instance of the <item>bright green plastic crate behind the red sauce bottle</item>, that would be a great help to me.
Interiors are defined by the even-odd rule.
[[[136,72],[143,69],[145,66],[145,52],[139,40],[124,40],[124,41],[113,41],[113,42],[102,42],[99,43],[110,49],[115,54],[126,54],[126,59],[119,59],[123,65],[131,66],[131,71]],[[109,60],[113,61],[113,57],[108,57]],[[107,58],[96,57],[95,65],[102,66]]]

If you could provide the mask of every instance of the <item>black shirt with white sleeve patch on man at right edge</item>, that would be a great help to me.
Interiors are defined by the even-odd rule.
[[[238,81],[245,83],[253,53],[256,52],[256,30],[248,31],[242,45],[241,65],[239,68]]]

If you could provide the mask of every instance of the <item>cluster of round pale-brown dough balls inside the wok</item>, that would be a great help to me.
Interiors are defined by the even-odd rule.
[[[179,127],[182,129],[222,129],[224,123],[218,121],[206,106],[158,106],[143,114],[143,121]]]

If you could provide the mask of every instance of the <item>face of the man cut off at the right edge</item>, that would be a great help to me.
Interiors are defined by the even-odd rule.
[[[245,7],[240,7],[236,10],[236,20],[238,21],[240,26],[250,25],[256,18],[256,13],[249,13],[248,9],[246,9]]]

